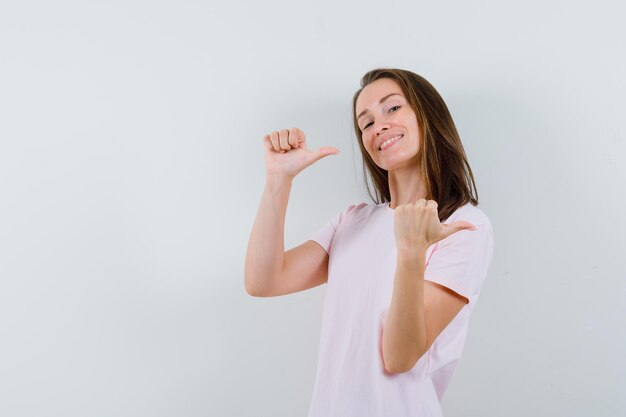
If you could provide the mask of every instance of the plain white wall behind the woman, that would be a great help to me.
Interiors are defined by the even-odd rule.
[[[371,202],[368,70],[446,100],[494,227],[447,416],[626,414],[620,2],[0,1],[0,415],[305,416],[324,286],[243,286],[262,137],[335,146],[286,249]]]

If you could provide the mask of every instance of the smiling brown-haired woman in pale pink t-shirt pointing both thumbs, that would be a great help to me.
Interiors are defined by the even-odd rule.
[[[285,252],[294,177],[338,150],[310,150],[296,128],[266,135],[246,291],[271,297],[327,284],[309,417],[441,416],[491,263],[491,223],[450,112],[427,80],[369,71],[352,110],[375,203],[349,205]]]

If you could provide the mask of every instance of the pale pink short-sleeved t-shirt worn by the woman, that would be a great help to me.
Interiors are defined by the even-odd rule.
[[[311,237],[328,252],[329,264],[309,417],[442,416],[440,401],[491,263],[491,222],[469,203],[444,221],[466,220],[478,230],[461,230],[431,245],[424,279],[469,303],[411,370],[390,374],[381,346],[397,261],[394,213],[389,203],[350,205]]]

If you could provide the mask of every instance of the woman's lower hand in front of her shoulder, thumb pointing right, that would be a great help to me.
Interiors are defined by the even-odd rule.
[[[476,230],[476,226],[466,221],[442,224],[439,221],[437,202],[420,198],[413,204],[402,204],[394,213],[396,247],[398,250],[428,247],[460,230]]]

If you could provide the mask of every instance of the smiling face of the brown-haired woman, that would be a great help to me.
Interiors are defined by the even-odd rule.
[[[380,78],[365,86],[356,101],[356,114],[363,146],[376,165],[387,171],[417,166],[421,143],[417,116],[396,81]]]

